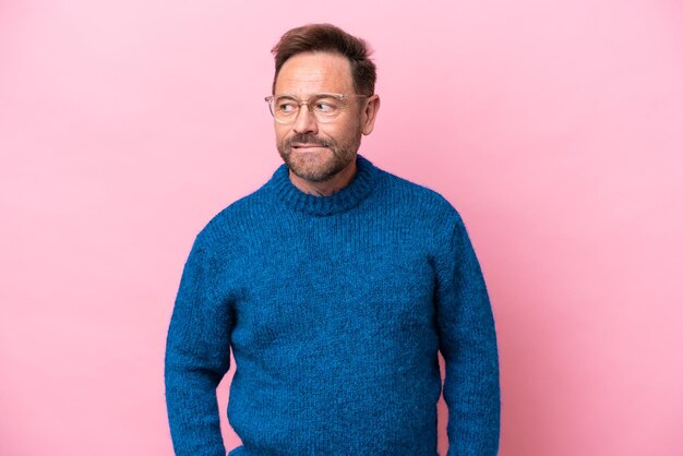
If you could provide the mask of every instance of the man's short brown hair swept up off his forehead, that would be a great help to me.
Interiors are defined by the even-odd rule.
[[[364,40],[347,34],[332,24],[309,24],[286,32],[277,45],[271,49],[275,56],[275,82],[283,64],[289,58],[302,52],[333,52],[346,57],[351,64],[354,89],[361,95],[374,94],[378,79],[376,67],[370,60],[372,50]]]

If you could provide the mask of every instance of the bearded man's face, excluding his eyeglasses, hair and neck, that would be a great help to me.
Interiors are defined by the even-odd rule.
[[[275,95],[307,101],[321,93],[354,94],[349,61],[328,52],[304,52],[280,68]],[[326,181],[356,159],[361,134],[370,131],[362,121],[367,98],[349,98],[347,108],[332,122],[317,122],[302,106],[292,123],[275,122],[277,149],[291,172],[312,182]]]

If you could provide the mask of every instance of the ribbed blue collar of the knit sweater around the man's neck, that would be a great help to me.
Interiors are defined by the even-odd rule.
[[[289,179],[289,168],[280,165],[267,182],[268,187],[287,206],[311,215],[332,215],[347,211],[372,193],[378,168],[366,157],[356,155],[356,175],[344,189],[329,196],[315,196],[295,187]]]

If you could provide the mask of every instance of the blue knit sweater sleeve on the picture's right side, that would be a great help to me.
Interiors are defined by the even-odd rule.
[[[446,225],[448,226],[448,225]],[[438,262],[435,305],[445,361],[448,456],[493,456],[500,437],[500,380],[493,313],[483,275],[457,212]]]

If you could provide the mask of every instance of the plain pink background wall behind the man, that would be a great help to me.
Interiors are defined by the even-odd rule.
[[[0,454],[172,454],[184,260],[279,165],[269,49],[321,21],[376,50],[361,152],[468,226],[501,455],[683,454],[673,0],[0,2]]]

